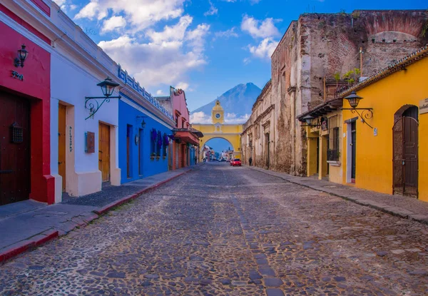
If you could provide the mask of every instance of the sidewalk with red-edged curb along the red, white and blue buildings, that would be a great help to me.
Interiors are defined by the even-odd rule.
[[[21,252],[66,235],[111,208],[138,198],[191,169],[170,170],[121,186],[109,185],[98,193],[66,198],[55,205],[34,200],[4,205],[0,207],[0,264]]]

